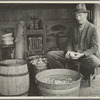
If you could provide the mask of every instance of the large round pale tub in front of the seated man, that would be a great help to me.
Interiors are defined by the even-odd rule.
[[[81,74],[69,69],[49,69],[36,75],[37,86],[43,96],[79,96],[80,81]]]

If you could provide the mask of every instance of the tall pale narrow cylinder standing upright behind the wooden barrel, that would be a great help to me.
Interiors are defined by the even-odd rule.
[[[24,58],[24,30],[25,22],[20,21],[17,27],[16,39],[15,39],[15,58],[23,59]]]

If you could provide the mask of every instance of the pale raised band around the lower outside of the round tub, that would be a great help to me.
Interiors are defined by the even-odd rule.
[[[68,89],[68,90],[50,90],[50,89],[45,89],[45,88],[42,88],[42,87],[38,86],[38,88],[40,89],[40,91],[51,93],[51,94],[66,94],[66,93],[70,93],[72,91],[78,90],[79,87],[80,87],[80,85],[78,85],[75,88]]]

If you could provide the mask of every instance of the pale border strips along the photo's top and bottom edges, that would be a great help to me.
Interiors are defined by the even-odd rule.
[[[98,4],[98,3],[100,3],[100,1],[0,1],[0,3],[5,3],[5,4],[7,4],[7,3],[20,3],[20,4],[29,4],[29,3],[36,3],[36,4],[47,4],[47,3],[51,3],[51,4],[71,4],[71,3],[89,3],[89,4]],[[47,100],[47,99],[57,99],[57,100],[65,100],[65,99],[83,99],[83,100],[85,100],[85,99],[100,99],[100,97],[89,97],[89,96],[87,96],[87,97],[64,97],[64,96],[60,96],[60,97],[53,97],[53,96],[47,96],[47,97],[43,97],[43,96],[21,96],[21,97],[0,97],[0,99],[2,100],[2,99],[28,99],[28,100],[31,100],[31,99],[39,99],[39,100],[41,100],[41,99],[44,99],[44,100]]]

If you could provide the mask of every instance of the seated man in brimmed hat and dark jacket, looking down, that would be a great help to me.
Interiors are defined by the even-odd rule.
[[[98,34],[96,27],[87,20],[88,13],[85,4],[78,4],[75,12],[77,24],[72,29],[66,50],[47,53],[50,68],[65,68],[65,62],[79,61],[80,71],[86,80],[93,74],[94,68],[100,66],[97,58]]]

